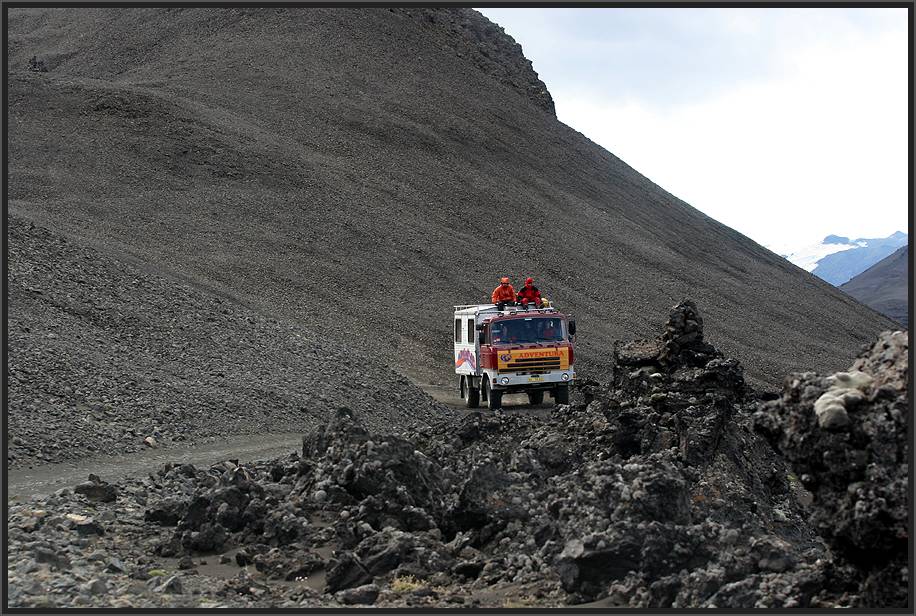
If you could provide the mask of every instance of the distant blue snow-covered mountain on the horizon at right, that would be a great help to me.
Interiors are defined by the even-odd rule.
[[[770,250],[833,285],[848,282],[857,274],[907,245],[907,234],[897,231],[887,237],[850,239],[828,235],[805,246],[772,245]]]

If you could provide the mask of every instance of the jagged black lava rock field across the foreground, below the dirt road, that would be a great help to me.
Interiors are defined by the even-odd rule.
[[[877,389],[848,405],[849,439],[801,406],[827,381],[794,383],[820,377],[761,406],[684,302],[546,420],[474,412],[394,434],[340,408],[300,454],[92,477],[10,508],[10,604],[899,606],[905,575],[836,543],[872,537],[894,559],[905,544],[890,375],[906,336],[887,340],[857,364]],[[783,435],[803,484],[761,432]],[[815,461],[824,447],[838,464]],[[843,461],[877,474],[853,493]]]

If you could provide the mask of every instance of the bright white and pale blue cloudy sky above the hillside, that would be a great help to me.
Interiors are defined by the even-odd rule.
[[[905,8],[485,8],[557,116],[757,242],[907,231]]]

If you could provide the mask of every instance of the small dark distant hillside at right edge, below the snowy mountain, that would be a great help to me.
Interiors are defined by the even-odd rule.
[[[904,246],[840,288],[867,306],[908,327],[909,248]]]

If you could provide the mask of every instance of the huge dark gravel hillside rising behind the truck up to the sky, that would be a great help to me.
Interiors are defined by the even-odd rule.
[[[558,122],[470,10],[14,9],[8,51],[12,212],[419,382],[504,274],[577,315],[584,374],[688,295],[754,383],[891,326]]]

